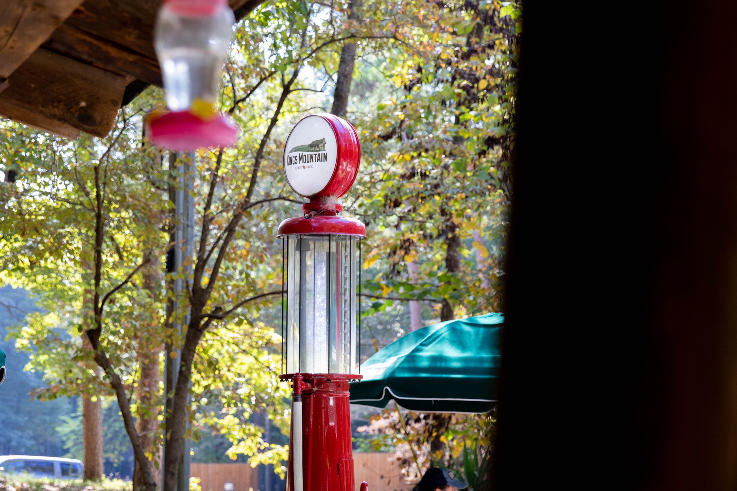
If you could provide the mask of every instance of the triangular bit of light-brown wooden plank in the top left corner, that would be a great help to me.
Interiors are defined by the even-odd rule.
[[[82,0],[0,1],[0,79],[10,77]]]

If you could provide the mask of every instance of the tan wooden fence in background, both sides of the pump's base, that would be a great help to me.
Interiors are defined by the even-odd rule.
[[[368,491],[411,491],[412,485],[405,484],[393,456],[394,453],[354,453],[356,491],[361,481],[368,482]],[[258,469],[248,464],[192,464],[189,475],[200,478],[202,491],[226,491],[226,483],[233,484],[228,491],[259,489]]]

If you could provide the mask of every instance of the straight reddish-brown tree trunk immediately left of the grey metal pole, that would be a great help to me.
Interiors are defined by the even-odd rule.
[[[156,298],[159,290],[159,283],[161,282],[161,272],[159,271],[158,256],[152,252],[147,252],[147,256],[150,260],[148,266],[143,270],[143,283],[144,289],[147,289],[152,298]],[[139,432],[141,437],[141,443],[147,452],[151,452],[154,444],[158,440],[158,384],[161,381],[161,373],[158,366],[158,357],[161,353],[161,346],[150,346],[142,345],[139,341],[139,364],[141,367],[141,379],[139,381],[139,387],[137,396],[139,400],[139,410],[136,414],[136,430]],[[161,446],[157,445],[156,449],[153,449],[153,459],[159,462],[159,468],[161,467]],[[161,480],[161,472],[153,466],[153,476],[156,481]],[[138,462],[134,459],[133,466],[133,490],[139,490],[145,487],[146,481],[144,479],[141,468]]]

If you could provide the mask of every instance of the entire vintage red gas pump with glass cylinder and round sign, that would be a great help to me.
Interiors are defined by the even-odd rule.
[[[338,198],[360,164],[353,127],[332,114],[307,116],[284,148],[284,175],[310,198],[284,220],[282,379],[292,381],[287,491],[354,491],[349,383],[358,375],[356,248],[366,226],[339,216]],[[362,483],[366,491],[368,484]]]

